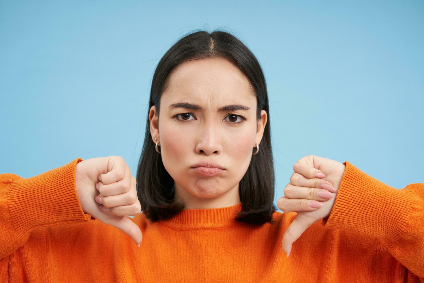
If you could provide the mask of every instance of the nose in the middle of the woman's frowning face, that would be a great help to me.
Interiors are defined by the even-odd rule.
[[[213,153],[221,154],[221,124],[216,120],[206,119],[198,130],[196,145],[196,153],[205,153],[211,155]]]

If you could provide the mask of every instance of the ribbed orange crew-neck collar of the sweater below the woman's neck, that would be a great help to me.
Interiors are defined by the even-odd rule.
[[[171,219],[158,221],[160,224],[176,230],[193,230],[209,228],[225,228],[243,224],[235,221],[237,212],[241,210],[241,202],[237,205],[219,208],[184,209]]]

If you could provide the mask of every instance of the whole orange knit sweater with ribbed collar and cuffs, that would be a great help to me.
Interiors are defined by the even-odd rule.
[[[28,179],[0,174],[1,282],[424,282],[424,183],[395,189],[349,162],[331,214],[293,243],[276,224],[234,221],[241,203],[183,210],[151,225],[141,247],[84,213],[77,158]]]

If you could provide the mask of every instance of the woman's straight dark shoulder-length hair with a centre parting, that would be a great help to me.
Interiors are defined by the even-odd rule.
[[[268,94],[262,69],[253,53],[235,36],[225,31],[212,33],[194,30],[179,39],[159,61],[153,75],[149,109],[156,106],[159,116],[160,98],[167,88],[172,70],[183,62],[205,58],[229,59],[251,82],[257,98],[257,121],[260,112],[267,112],[268,120],[258,154],[252,155],[249,167],[240,180],[239,193],[242,202],[236,221],[249,224],[273,224],[274,166],[271,150],[270,114]],[[149,111],[148,111],[149,112]],[[149,113],[148,113],[149,114]],[[252,147],[252,153],[256,148]],[[173,203],[174,180],[165,170],[162,155],[156,152],[151,138],[150,121],[147,118],[142,153],[137,168],[137,193],[142,211],[150,223],[170,219],[185,208],[184,202]]]

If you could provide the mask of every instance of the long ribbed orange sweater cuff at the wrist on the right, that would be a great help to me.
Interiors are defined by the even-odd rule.
[[[322,220],[327,228],[346,229],[396,244],[412,213],[413,199],[402,189],[392,188],[345,161],[340,187],[330,215]]]

